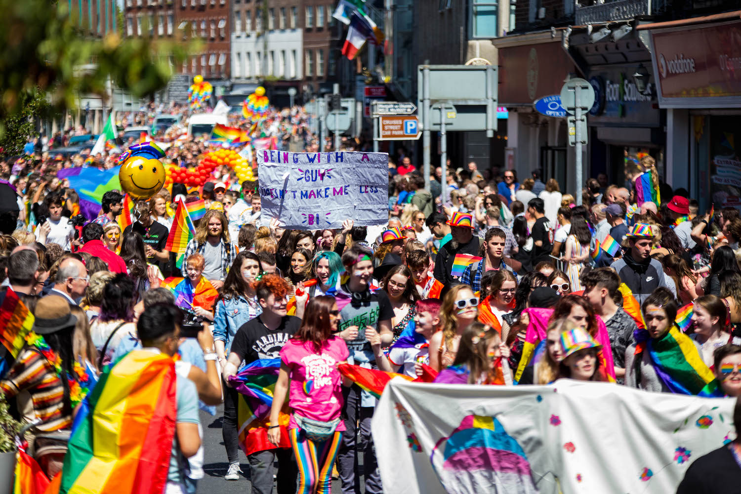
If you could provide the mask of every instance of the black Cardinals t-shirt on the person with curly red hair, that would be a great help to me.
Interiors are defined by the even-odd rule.
[[[299,330],[301,319],[283,316],[276,330],[268,330],[260,316],[250,319],[237,330],[231,351],[249,364],[260,358],[280,358],[280,349]]]

